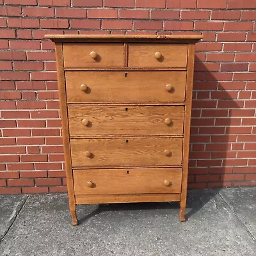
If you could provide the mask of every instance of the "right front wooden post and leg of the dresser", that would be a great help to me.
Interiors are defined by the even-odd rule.
[[[188,186],[188,161],[189,161],[189,136],[191,123],[191,107],[192,107],[192,88],[195,61],[195,44],[188,45],[188,72],[186,83],[186,106],[184,116],[184,140],[183,140],[183,173],[182,173],[182,193],[180,195],[180,221],[185,221],[185,210],[187,200]]]

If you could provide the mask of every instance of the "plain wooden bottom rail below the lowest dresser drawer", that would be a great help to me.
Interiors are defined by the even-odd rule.
[[[179,202],[180,194],[77,195],[76,204]]]

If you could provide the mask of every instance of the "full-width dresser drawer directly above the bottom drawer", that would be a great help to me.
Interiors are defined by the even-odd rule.
[[[71,139],[70,144],[74,167],[182,163],[182,138]]]

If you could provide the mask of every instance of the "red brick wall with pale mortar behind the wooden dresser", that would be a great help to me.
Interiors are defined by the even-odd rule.
[[[0,193],[66,191],[45,34],[202,32],[189,188],[255,186],[256,0],[0,0]]]

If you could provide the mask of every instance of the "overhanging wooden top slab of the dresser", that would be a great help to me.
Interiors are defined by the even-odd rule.
[[[203,38],[202,35],[45,35],[45,38],[51,39],[52,42],[86,42],[92,40],[112,40],[124,42],[132,40],[160,40],[160,41],[168,41],[168,40],[175,40],[175,41],[198,41]]]

